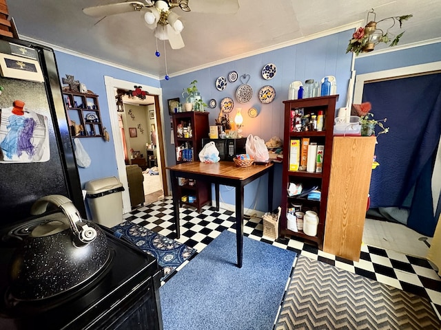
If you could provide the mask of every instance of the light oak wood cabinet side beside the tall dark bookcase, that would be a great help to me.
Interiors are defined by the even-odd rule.
[[[376,137],[334,137],[323,251],[360,259]]]

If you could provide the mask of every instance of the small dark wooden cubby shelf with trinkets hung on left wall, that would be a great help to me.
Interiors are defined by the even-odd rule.
[[[63,89],[63,99],[72,137],[103,136],[103,122],[96,94]]]

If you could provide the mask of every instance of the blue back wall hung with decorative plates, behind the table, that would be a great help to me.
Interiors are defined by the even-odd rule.
[[[237,61],[216,65],[207,69],[201,69],[189,74],[183,74],[170,78],[170,80],[161,80],[163,88],[163,100],[170,98],[183,98],[181,93],[183,88],[187,87],[192,80],[198,80],[198,89],[205,103],[210,99],[216,100],[218,107],[216,109],[206,109],[209,112],[209,123],[214,125],[215,119],[220,112],[220,100],[225,97],[234,100],[234,107],[241,107],[243,113],[243,136],[248,134],[258,135],[263,140],[268,141],[273,136],[278,136],[283,140],[283,101],[287,100],[289,84],[295,80],[305,80],[312,78],[321,80],[324,76],[335,76],[337,80],[338,91],[340,94],[337,108],[346,103],[347,87],[351,77],[351,54],[345,54],[347,42],[351,39],[353,31],[340,32],[331,36],[325,36],[313,41],[307,41],[298,45],[284,47],[279,50],[265,52],[255,56],[249,56]],[[262,77],[262,68],[267,63],[274,63],[277,67],[276,76],[271,80],[265,80]],[[227,83],[227,88],[218,91],[215,87],[215,81],[218,77],[227,78],[229,72],[236,71],[239,75],[234,83]],[[254,91],[252,100],[246,104],[240,104],[236,99],[236,89],[242,84],[240,76],[249,74],[247,82]],[[246,83],[246,81],[244,81]],[[276,89],[276,98],[269,104],[262,104],[258,99],[258,91],[265,85],[271,85]],[[247,111],[250,107],[258,110],[256,118],[250,118]],[[167,109],[166,109],[167,112]],[[234,119],[236,110],[233,109],[230,117]],[[170,141],[170,125],[165,125],[166,146],[168,148],[168,164],[176,164],[174,157],[174,144]],[[260,182],[262,181],[262,182]],[[234,194],[232,188],[221,186],[221,201],[234,205]],[[280,205],[282,193],[282,165],[275,165],[274,173],[274,207]],[[257,193],[256,193],[257,192]],[[260,211],[267,210],[267,177],[260,178],[252,184],[245,186],[245,208],[256,209]]]

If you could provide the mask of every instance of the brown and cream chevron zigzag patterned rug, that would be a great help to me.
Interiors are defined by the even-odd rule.
[[[298,256],[274,329],[441,329],[441,323],[426,298]]]

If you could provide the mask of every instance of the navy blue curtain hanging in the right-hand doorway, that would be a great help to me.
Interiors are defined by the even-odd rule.
[[[441,74],[365,84],[363,102],[371,102],[374,118],[387,118],[384,126],[390,127],[377,139],[380,166],[372,171],[371,208],[405,207],[415,187],[407,225],[433,235],[430,176],[441,133]]]

